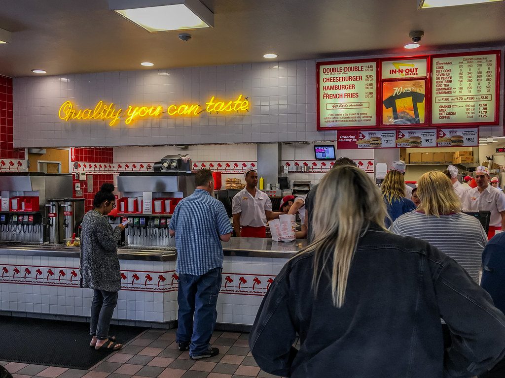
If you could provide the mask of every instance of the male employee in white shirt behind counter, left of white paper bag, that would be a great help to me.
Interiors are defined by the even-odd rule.
[[[236,236],[266,237],[267,221],[279,218],[282,213],[272,211],[272,201],[260,191],[258,173],[253,167],[245,170],[245,187],[238,192],[231,202],[233,229]]]

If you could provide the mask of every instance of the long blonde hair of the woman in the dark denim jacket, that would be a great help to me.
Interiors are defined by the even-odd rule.
[[[314,253],[312,286],[315,293],[328,262],[332,260],[333,304],[337,307],[343,305],[350,263],[358,239],[370,222],[384,228],[386,214],[378,187],[361,169],[342,165],[325,174],[314,204],[314,241],[302,251]]]

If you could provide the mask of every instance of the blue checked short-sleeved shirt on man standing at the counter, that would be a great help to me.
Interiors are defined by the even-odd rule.
[[[170,221],[175,231],[177,273],[201,276],[223,267],[220,235],[233,232],[223,204],[196,189],[175,207]]]

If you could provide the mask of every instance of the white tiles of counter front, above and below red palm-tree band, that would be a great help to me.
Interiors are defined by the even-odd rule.
[[[288,259],[250,258],[225,256],[223,277],[225,273],[236,276],[258,275],[262,279],[263,291],[268,278],[274,278]],[[24,266],[61,266],[71,263],[79,264],[76,258],[29,257],[0,255],[0,266],[19,264]],[[121,260],[123,271],[143,270],[144,272],[171,272],[175,262],[139,262]],[[33,271],[33,270],[32,270]],[[271,277],[269,277],[271,276]],[[236,278],[236,277],[235,277]],[[224,279],[224,278],[223,278]],[[252,325],[263,299],[263,295],[250,295],[249,288],[244,294],[221,292],[218,297],[217,311],[219,323]],[[256,289],[258,292],[258,289]],[[13,284],[2,282],[0,285],[0,310],[24,311],[47,314],[64,314],[89,317],[92,290],[79,287],[58,287],[31,284]],[[142,292],[121,290],[118,293],[118,304],[113,319],[138,320],[147,322],[168,322],[177,319],[177,291]]]

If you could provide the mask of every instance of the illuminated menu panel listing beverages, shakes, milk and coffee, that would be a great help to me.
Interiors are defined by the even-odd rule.
[[[432,123],[497,123],[497,54],[433,57]]]

